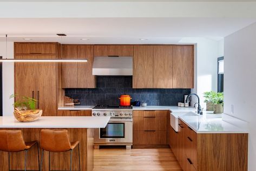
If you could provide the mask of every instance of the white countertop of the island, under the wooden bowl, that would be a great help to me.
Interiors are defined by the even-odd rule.
[[[105,128],[110,117],[42,116],[34,122],[19,122],[14,116],[1,116],[0,128]]]

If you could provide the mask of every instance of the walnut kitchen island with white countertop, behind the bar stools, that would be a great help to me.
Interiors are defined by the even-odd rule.
[[[22,130],[25,142],[40,141],[41,129],[67,129],[70,141],[80,141],[81,170],[93,170],[93,128],[106,127],[110,117],[91,116],[42,116],[35,122],[18,122],[14,116],[0,117],[0,130]],[[69,169],[69,152],[51,153],[51,170]],[[11,170],[24,169],[24,152],[11,153]],[[40,152],[41,158],[41,152]],[[27,170],[38,170],[37,148],[32,147],[28,151]],[[42,170],[49,170],[49,153],[44,153]],[[78,148],[73,152],[72,170],[79,170]],[[1,170],[8,170],[8,153],[0,152]]]

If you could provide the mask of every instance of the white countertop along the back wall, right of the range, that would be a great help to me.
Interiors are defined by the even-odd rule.
[[[146,106],[133,107],[133,110],[170,110],[172,113],[188,113],[189,111],[196,111],[193,107],[178,107],[178,106]]]

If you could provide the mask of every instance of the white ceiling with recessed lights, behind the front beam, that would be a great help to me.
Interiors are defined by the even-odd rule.
[[[178,43],[183,37],[220,40],[256,18],[0,18],[0,41],[61,43]],[[56,36],[57,33],[67,37]],[[81,41],[81,38],[89,38]],[[141,41],[140,38],[148,40]]]

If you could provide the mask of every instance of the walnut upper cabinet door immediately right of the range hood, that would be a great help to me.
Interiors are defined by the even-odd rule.
[[[153,46],[134,46],[133,88],[153,88],[153,54]]]

